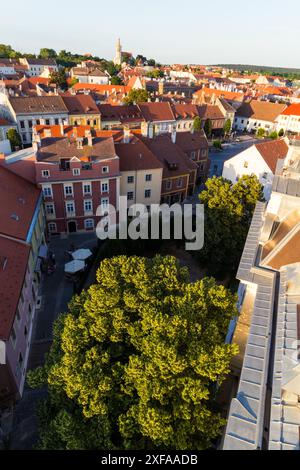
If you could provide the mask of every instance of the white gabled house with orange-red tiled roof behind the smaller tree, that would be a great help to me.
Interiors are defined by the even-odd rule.
[[[235,183],[244,175],[256,175],[270,199],[276,169],[283,166],[289,150],[288,140],[278,139],[252,145],[224,163],[223,178]]]

